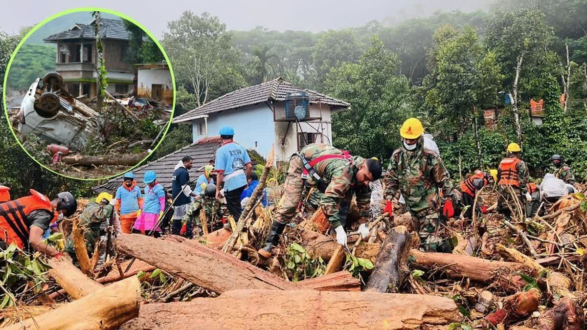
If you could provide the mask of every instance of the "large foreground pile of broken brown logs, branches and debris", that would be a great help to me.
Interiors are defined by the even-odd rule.
[[[496,194],[486,189],[484,200]],[[586,210],[576,193],[542,217],[506,220],[490,212],[451,220],[444,230],[456,247],[445,254],[415,248],[409,214],[373,219],[370,236],[349,233],[346,249],[324,233],[319,209],[299,213],[271,260],[263,260],[256,251],[275,206],[249,202],[231,230],[194,240],[118,235],[112,271],[102,277],[92,279],[93,271],[88,277],[64,258],[50,260],[49,274],[76,300],[34,322],[39,328],[584,329]],[[22,325],[32,327],[33,319]]]

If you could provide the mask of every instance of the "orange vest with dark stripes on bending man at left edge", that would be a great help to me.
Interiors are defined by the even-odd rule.
[[[47,210],[53,213],[52,222],[58,217],[47,196],[33,189],[31,194],[0,204],[0,240],[7,244],[14,242],[21,249],[29,243],[32,221],[27,218],[28,214],[36,210]]]

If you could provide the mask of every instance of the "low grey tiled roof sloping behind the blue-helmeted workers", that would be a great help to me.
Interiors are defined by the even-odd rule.
[[[193,159],[193,167],[190,169],[190,186],[194,187],[198,176],[204,173],[204,166],[214,160],[216,150],[220,147],[220,142],[220,136],[205,137],[160,159],[143,164],[132,172],[139,187],[143,188],[146,186],[143,183],[144,174],[147,171],[154,171],[157,174],[157,181],[166,188],[168,193],[171,193],[171,176],[173,176],[174,167],[184,156],[190,156]],[[99,186],[92,187],[92,190],[96,194],[103,191],[113,194],[122,184],[122,177],[123,174]]]

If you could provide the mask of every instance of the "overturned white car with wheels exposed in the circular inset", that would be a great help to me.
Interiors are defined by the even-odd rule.
[[[63,78],[48,72],[43,86],[37,78],[22,99],[18,132],[34,134],[50,143],[80,148],[90,137],[99,139],[103,116],[63,89]]]

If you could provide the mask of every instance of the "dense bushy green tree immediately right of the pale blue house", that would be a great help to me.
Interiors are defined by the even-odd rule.
[[[333,144],[383,159],[400,146],[399,126],[411,113],[410,87],[397,74],[397,55],[375,37],[370,45],[358,63],[332,69],[325,85],[330,95],[351,104],[350,110],[333,116]]]

